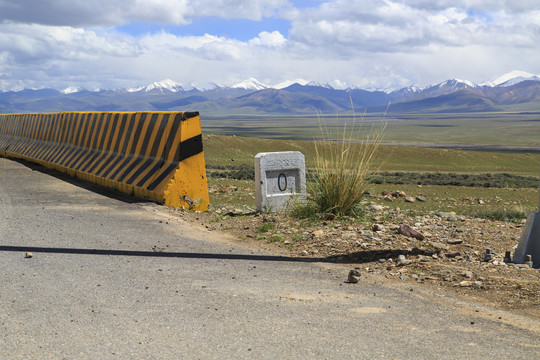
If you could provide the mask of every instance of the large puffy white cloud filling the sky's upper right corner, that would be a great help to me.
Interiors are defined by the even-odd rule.
[[[373,51],[426,51],[437,44],[453,47],[502,43],[510,47],[538,46],[538,11],[515,15],[504,12],[505,7],[499,6],[493,8],[489,16],[484,14],[482,17],[475,16],[469,8],[455,7],[455,2],[449,2],[454,4],[452,6],[437,2],[439,5],[435,9],[420,6],[424,3],[327,2],[295,18],[290,40],[312,48],[333,48],[343,56]]]

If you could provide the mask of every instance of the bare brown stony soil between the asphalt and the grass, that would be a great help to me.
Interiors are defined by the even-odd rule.
[[[213,191],[218,190],[210,188]],[[405,201],[405,195],[396,195],[394,201]],[[302,220],[227,206],[205,213],[169,211],[208,231],[232,235],[244,245],[298,259],[345,264],[360,271],[361,281],[416,284],[540,320],[540,269],[504,259],[507,251],[513,255],[523,223],[440,211],[412,216],[376,203],[381,202],[366,204],[363,219]],[[403,234],[403,225],[416,230],[416,237]]]

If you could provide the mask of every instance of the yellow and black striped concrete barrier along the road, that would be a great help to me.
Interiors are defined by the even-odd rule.
[[[168,206],[208,209],[197,112],[0,114],[0,155]]]

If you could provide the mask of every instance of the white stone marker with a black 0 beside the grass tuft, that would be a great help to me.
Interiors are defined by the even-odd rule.
[[[258,211],[284,211],[306,199],[306,164],[299,151],[255,155],[255,199]]]

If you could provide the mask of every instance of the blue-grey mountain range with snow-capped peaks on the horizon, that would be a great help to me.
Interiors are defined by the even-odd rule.
[[[248,79],[198,89],[172,80],[137,88],[77,88],[0,92],[0,113],[58,111],[199,111],[203,116],[313,115],[350,111],[389,113],[540,111],[540,75],[513,71],[475,84],[452,79],[423,89],[338,88],[305,80],[268,86]]]

